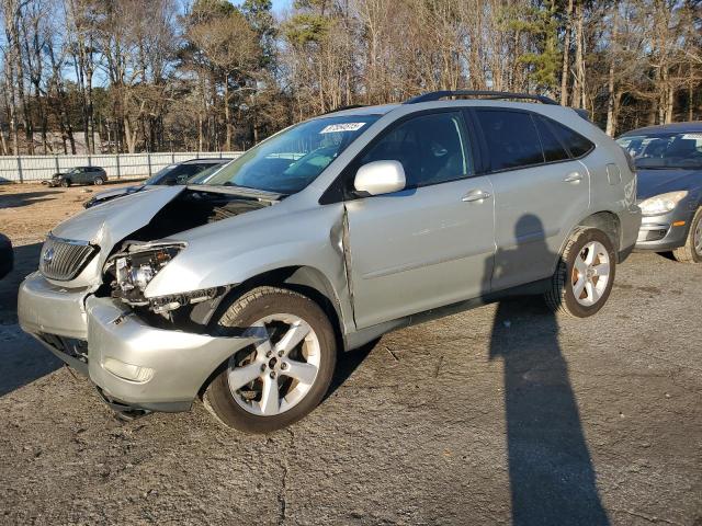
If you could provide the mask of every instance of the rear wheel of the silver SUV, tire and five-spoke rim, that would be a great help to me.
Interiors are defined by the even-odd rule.
[[[616,254],[610,238],[578,227],[568,239],[544,298],[554,312],[575,318],[597,313],[612,291]]]

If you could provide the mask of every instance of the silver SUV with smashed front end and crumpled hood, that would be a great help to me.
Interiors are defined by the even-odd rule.
[[[595,315],[641,225],[630,159],[550,99],[482,94],[326,114],[206,184],[82,211],[22,284],[22,328],[118,411],[202,395],[270,432],[394,329],[524,293]]]

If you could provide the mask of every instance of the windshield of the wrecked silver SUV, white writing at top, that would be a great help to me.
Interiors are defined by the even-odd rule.
[[[378,118],[380,115],[330,116],[298,124],[251,148],[207,184],[294,194],[317,179]]]

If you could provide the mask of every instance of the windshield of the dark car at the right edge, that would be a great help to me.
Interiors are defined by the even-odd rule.
[[[702,169],[702,133],[626,135],[616,142],[642,170]]]

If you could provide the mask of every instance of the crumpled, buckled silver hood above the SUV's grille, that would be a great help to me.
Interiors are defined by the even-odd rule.
[[[57,225],[52,235],[89,241],[101,248],[101,264],[114,244],[147,225],[185,186],[159,186],[88,208]]]

